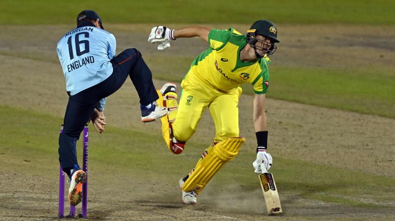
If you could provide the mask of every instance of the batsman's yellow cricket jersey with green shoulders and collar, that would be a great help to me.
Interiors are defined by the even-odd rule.
[[[268,57],[253,62],[242,62],[240,50],[247,44],[246,37],[235,31],[212,29],[208,34],[209,47],[192,62],[181,86],[205,84],[230,92],[242,83],[253,85],[256,94],[264,94],[269,86]]]

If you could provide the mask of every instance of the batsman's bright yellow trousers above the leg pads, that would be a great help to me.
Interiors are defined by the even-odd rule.
[[[169,101],[169,106],[178,110],[169,113],[173,135],[178,141],[187,141],[195,133],[203,111],[208,107],[215,124],[214,142],[230,137],[238,137],[238,99],[242,89],[237,87],[231,92],[220,92],[202,86],[182,90],[180,103]]]

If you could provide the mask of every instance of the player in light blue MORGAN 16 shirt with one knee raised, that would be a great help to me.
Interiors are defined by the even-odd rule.
[[[143,122],[165,116],[167,109],[155,102],[158,94],[141,53],[131,48],[116,56],[116,39],[103,29],[96,12],[84,10],[78,14],[77,28],[59,40],[57,52],[69,95],[63,133],[59,135],[59,162],[71,179],[69,201],[75,206],[81,202],[81,186],[86,182],[77,162],[77,140],[90,119],[99,133],[104,131],[106,97],[129,76],[140,98]]]

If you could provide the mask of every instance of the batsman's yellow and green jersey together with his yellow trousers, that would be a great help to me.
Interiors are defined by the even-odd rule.
[[[242,62],[240,50],[246,37],[234,29],[212,29],[209,47],[192,62],[181,82],[182,95],[178,111],[170,111],[173,135],[187,141],[196,131],[203,111],[208,107],[215,123],[214,142],[238,137],[238,99],[242,83],[253,85],[256,94],[264,94],[269,86],[268,57]],[[176,107],[175,103],[170,104]]]

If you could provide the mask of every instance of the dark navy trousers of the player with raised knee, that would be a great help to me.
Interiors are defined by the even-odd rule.
[[[69,177],[71,169],[80,169],[76,145],[84,125],[88,122],[97,103],[116,92],[127,76],[130,77],[137,90],[141,105],[149,105],[158,100],[152,73],[138,50],[126,49],[114,57],[111,63],[114,71],[106,80],[73,96],[69,94],[58,149],[60,165]]]

